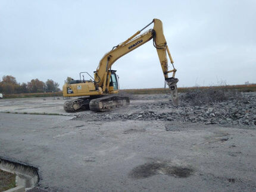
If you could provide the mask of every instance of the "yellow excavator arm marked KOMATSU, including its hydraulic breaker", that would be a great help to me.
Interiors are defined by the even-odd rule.
[[[142,30],[144,30],[152,23],[154,23],[153,29],[149,29],[145,33],[140,34]],[[175,78],[176,68],[174,68],[173,59],[171,58],[166,39],[164,37],[163,24],[160,20],[154,19],[146,27],[133,34],[133,36],[129,37],[129,39],[127,39],[123,43],[114,46],[114,48],[110,52],[106,53],[103,56],[94,74],[95,83],[99,87],[102,87],[102,90],[107,93],[110,85],[110,70],[114,62],[117,61],[117,59],[119,59],[121,56],[126,55],[127,53],[135,50],[139,46],[142,46],[144,43],[153,39],[153,44],[157,49],[158,58],[160,60],[161,68],[163,70],[164,79],[170,87],[173,103],[177,105],[178,100],[176,84],[179,80]],[[170,71],[168,71],[167,53],[173,67],[173,69]],[[172,73],[171,77],[168,77],[169,73]]]

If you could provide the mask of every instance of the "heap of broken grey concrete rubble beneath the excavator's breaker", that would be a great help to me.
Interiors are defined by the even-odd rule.
[[[194,94],[194,93],[193,93]],[[179,121],[222,125],[256,125],[256,94],[225,93],[216,99],[201,100],[192,93],[180,96],[180,105],[174,106],[168,95],[148,95],[145,99],[155,99],[151,103],[138,103],[125,111],[97,114],[98,119],[127,119],[142,121]],[[211,93],[214,94],[214,93]],[[193,96],[193,97],[192,97]],[[207,94],[205,97],[208,97]],[[213,97],[215,99],[213,99]],[[191,99],[189,99],[191,98]],[[161,100],[164,100],[163,102]],[[199,102],[200,101],[200,102]],[[197,105],[195,105],[195,103]]]

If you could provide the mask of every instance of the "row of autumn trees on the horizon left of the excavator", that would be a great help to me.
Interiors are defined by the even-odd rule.
[[[27,83],[18,83],[12,75],[4,75],[0,80],[0,93],[43,93],[43,92],[59,92],[60,85],[54,80],[48,79],[46,82],[40,81],[38,78],[32,79]]]

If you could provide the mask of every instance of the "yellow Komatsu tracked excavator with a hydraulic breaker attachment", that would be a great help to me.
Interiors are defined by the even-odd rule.
[[[153,29],[142,33],[146,27],[154,23]],[[153,45],[157,49],[158,57],[164,74],[165,85],[168,84],[171,92],[171,99],[177,105],[177,82],[175,78],[176,68],[173,65],[170,51],[163,34],[163,24],[160,20],[154,19],[147,26],[133,34],[129,39],[114,46],[106,53],[99,62],[98,68],[94,71],[94,78],[87,72],[80,73],[79,80],[71,80],[63,86],[64,97],[79,97],[79,99],[68,100],[64,103],[66,112],[76,112],[90,109],[95,112],[109,111],[113,108],[129,105],[129,97],[118,95],[119,86],[116,71],[111,70],[112,65],[118,58],[135,50],[139,46],[153,39]],[[167,53],[172,64],[172,70],[168,71]],[[172,73],[171,77],[168,74]],[[83,74],[88,74],[90,80],[85,80]],[[82,77],[81,77],[82,75]]]

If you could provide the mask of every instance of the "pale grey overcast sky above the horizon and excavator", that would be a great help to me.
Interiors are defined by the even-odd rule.
[[[93,74],[113,46],[159,18],[178,87],[256,83],[255,10],[254,0],[0,0],[0,77],[51,78],[62,89],[67,76]],[[118,59],[113,70],[121,89],[164,86],[152,40]]]

